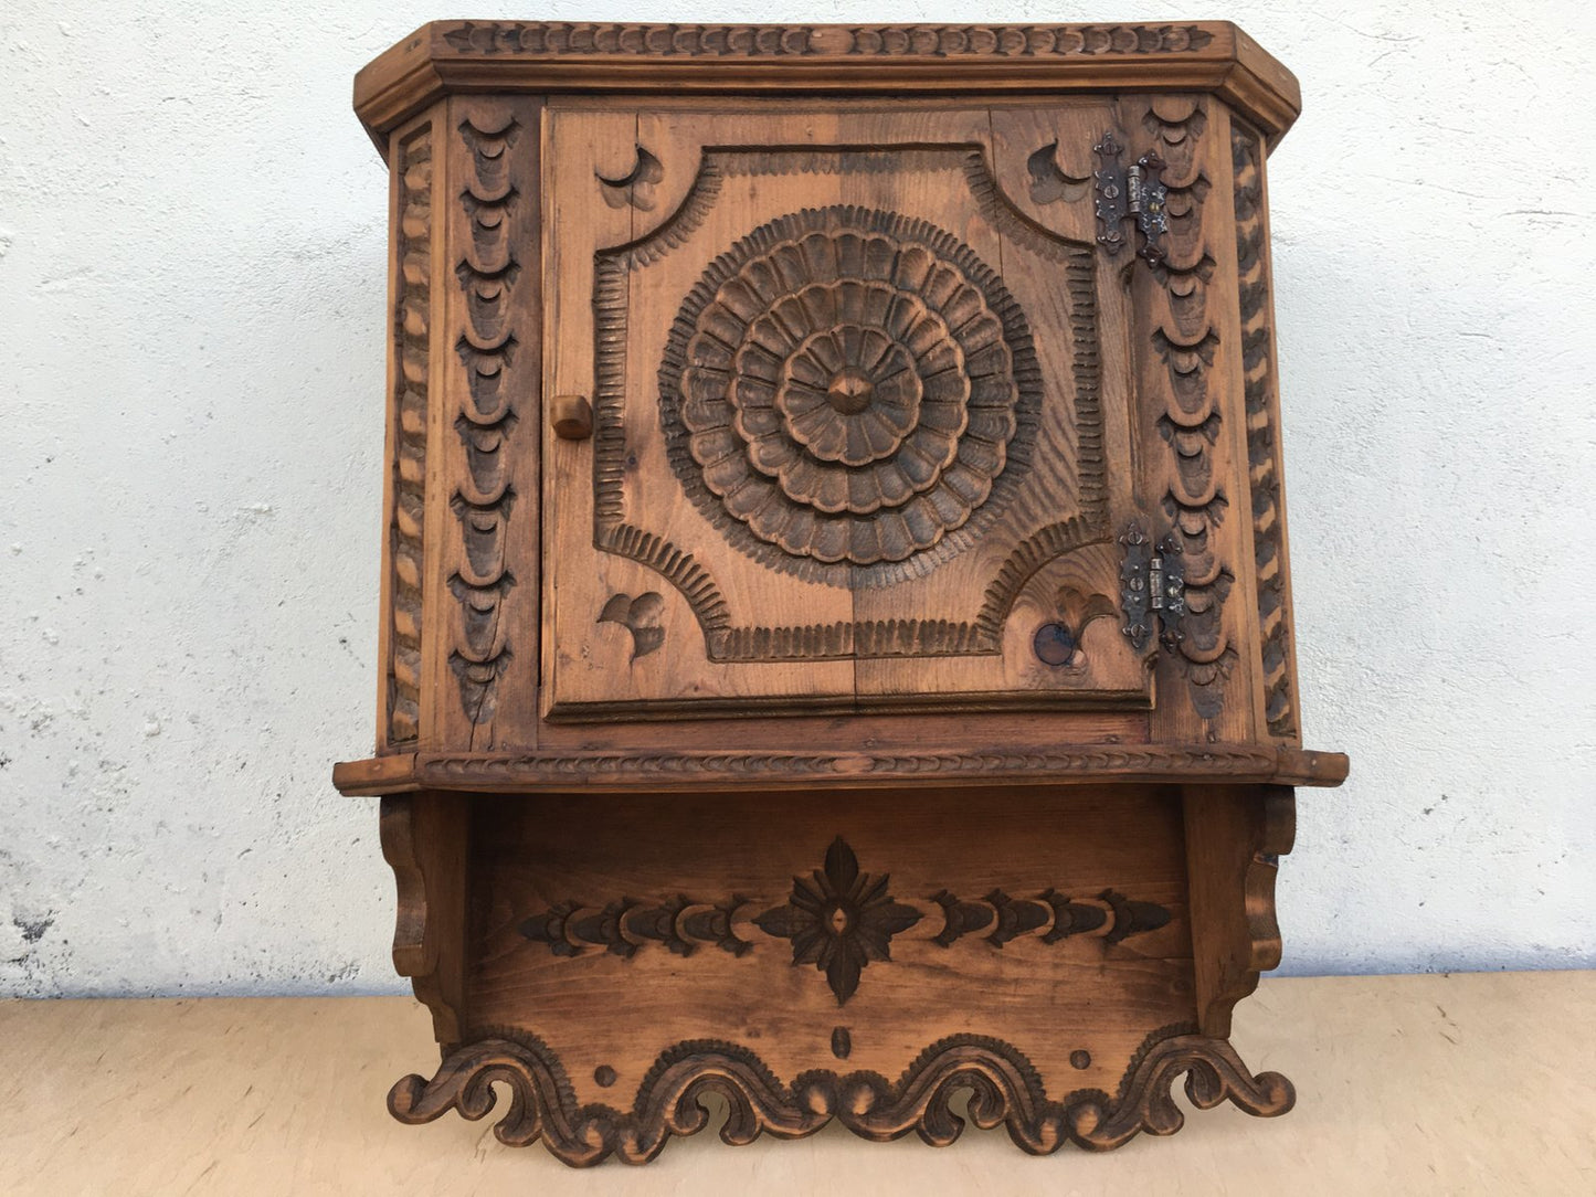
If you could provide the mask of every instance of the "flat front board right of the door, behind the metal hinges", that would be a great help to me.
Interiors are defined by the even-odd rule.
[[[1165,734],[1218,741],[1245,736],[1251,717],[1245,670],[1237,672],[1245,632],[1229,602],[1240,520],[1232,511],[1238,429],[1231,428],[1226,402],[1226,354],[1238,346],[1221,335],[1232,282],[1221,265],[1229,252],[1216,243],[1223,225],[1210,195],[1213,179],[1226,177],[1226,163],[1216,158],[1219,137],[1200,97],[1127,101],[1122,113],[1133,129],[1132,150],[1156,150],[1168,187],[1165,257],[1151,270],[1133,271],[1146,338],[1140,370],[1146,407],[1140,418],[1151,485],[1144,495],[1173,528],[1186,570],[1179,640],[1160,654],[1160,677],[1167,677],[1160,709]]]

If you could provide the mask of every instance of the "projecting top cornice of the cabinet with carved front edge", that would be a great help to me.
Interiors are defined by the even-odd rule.
[[[433,21],[354,77],[378,147],[439,96],[1210,91],[1274,144],[1296,77],[1229,21],[1090,26],[696,26]]]

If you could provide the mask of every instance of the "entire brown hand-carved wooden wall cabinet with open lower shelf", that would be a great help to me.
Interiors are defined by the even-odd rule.
[[[391,166],[393,1112],[568,1163],[1111,1148],[1290,1108],[1301,749],[1264,156],[1227,24],[440,22]]]

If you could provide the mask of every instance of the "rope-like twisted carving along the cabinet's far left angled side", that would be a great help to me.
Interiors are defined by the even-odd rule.
[[[393,509],[388,512],[391,619],[388,640],[388,742],[421,729],[421,565],[426,512],[428,329],[433,270],[433,126],[399,142],[394,302]]]

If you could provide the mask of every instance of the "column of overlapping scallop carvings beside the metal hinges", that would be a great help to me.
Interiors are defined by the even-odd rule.
[[[1218,546],[1229,496],[1219,485],[1223,417],[1210,378],[1219,334],[1208,297],[1213,257],[1203,201],[1210,180],[1202,172],[1199,147],[1207,123],[1203,107],[1181,97],[1152,101],[1143,118],[1167,163],[1168,187],[1168,249],[1154,271],[1165,289],[1165,318],[1152,330],[1152,346],[1167,370],[1163,412],[1157,420],[1170,450],[1162,504],[1186,571],[1186,616],[1173,651],[1192,707],[1211,720],[1224,709],[1224,685],[1237,653],[1224,626],[1224,602],[1235,575]]]

